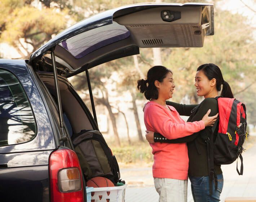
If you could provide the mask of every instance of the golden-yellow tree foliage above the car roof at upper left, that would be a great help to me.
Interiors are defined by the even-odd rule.
[[[30,1],[5,0],[0,11],[0,41],[12,45],[23,59],[67,26],[68,10],[40,10]]]

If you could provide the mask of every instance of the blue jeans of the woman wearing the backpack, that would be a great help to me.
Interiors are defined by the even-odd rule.
[[[220,194],[223,188],[223,175],[217,175],[218,186],[215,190],[215,185],[212,183],[212,195],[209,190],[209,176],[193,177],[189,176],[191,182],[191,190],[194,202],[216,202],[220,201]]]

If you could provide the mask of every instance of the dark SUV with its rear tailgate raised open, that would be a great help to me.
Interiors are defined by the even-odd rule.
[[[0,60],[0,201],[86,201],[72,134],[98,130],[89,69],[139,47],[202,47],[212,4],[134,4],[66,29],[29,60]],[[67,78],[86,72],[93,116]]]

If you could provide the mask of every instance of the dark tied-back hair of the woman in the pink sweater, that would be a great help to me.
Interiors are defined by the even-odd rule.
[[[140,79],[137,81],[137,88],[141,93],[144,93],[147,100],[158,98],[158,90],[155,86],[155,81],[163,82],[168,72],[172,73],[171,70],[164,66],[153,66],[147,72],[147,80]]]

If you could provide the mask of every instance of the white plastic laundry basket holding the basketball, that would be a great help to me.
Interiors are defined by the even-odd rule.
[[[126,187],[127,184],[118,187],[94,188],[91,202],[124,202]]]

